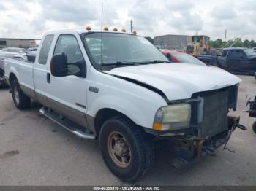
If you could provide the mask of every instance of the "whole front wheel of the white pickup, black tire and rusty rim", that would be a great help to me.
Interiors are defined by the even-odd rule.
[[[102,125],[99,147],[110,171],[125,182],[135,182],[154,164],[152,140],[127,117],[113,117]],[[120,156],[125,159],[121,160]]]

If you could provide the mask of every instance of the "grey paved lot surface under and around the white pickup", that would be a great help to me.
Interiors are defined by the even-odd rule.
[[[216,157],[172,167],[172,153],[157,152],[154,168],[136,184],[143,185],[256,185],[256,135],[242,110],[247,93],[256,93],[253,77],[243,79],[238,114],[247,131],[236,130],[228,148]],[[20,112],[8,90],[0,90],[0,185],[122,185],[99,152],[97,141],[80,140],[42,117],[39,106]]]

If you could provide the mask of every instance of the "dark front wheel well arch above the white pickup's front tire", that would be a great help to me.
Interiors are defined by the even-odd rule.
[[[115,109],[106,108],[106,109],[99,110],[99,112],[97,112],[96,117],[94,119],[94,127],[95,127],[96,135],[99,136],[100,128],[102,127],[103,123],[106,120],[110,119],[111,117],[115,117],[117,115],[122,115],[124,117],[127,117],[125,114],[118,112]],[[129,119],[129,117],[127,117],[127,118]],[[131,120],[131,119],[129,119],[129,120]]]

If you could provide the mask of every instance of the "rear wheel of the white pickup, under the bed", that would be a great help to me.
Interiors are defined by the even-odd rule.
[[[23,93],[21,90],[20,85],[18,84],[18,80],[15,79],[11,82],[12,88],[12,99],[15,106],[20,109],[28,109],[30,106],[30,98]]]

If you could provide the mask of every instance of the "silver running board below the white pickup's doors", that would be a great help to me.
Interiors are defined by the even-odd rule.
[[[42,107],[39,112],[82,139],[95,139],[94,133],[92,133],[91,130],[81,130],[82,128],[80,125],[72,122],[71,120],[68,120],[56,112],[47,109],[46,107]]]

